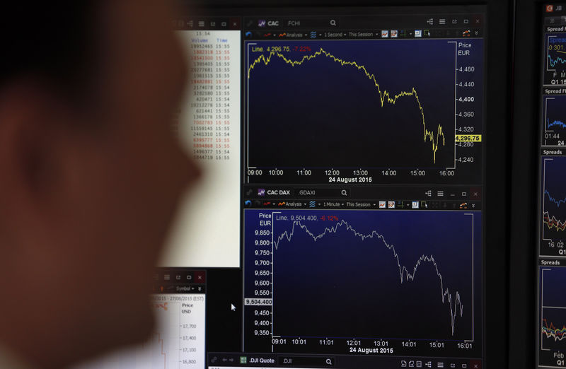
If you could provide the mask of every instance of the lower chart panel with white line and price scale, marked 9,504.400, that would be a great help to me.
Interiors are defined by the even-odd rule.
[[[434,356],[406,343],[472,345],[481,332],[480,211],[249,209],[244,221],[246,318],[262,317],[247,350],[275,337],[277,352]]]

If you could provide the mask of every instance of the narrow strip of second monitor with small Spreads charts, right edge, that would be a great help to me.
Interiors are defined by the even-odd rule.
[[[538,191],[539,368],[566,366],[566,4],[541,9],[541,141]]]

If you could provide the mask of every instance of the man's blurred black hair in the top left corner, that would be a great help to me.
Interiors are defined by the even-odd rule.
[[[0,20],[0,90],[38,76],[77,90],[96,55],[95,1],[6,1]],[[98,2],[97,2],[98,4]]]

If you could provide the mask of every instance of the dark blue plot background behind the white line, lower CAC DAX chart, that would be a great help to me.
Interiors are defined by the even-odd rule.
[[[256,210],[246,210],[246,258],[253,259]],[[411,272],[417,260],[433,255],[454,297],[461,295],[463,316],[451,332],[450,307],[441,301],[432,263],[417,269],[415,281],[400,282],[393,252],[377,238],[362,242],[339,228],[313,242],[295,228],[291,242],[279,242],[274,257],[274,334],[280,336],[471,339],[471,239],[475,237],[475,329],[480,334],[481,216],[450,211],[282,211],[284,215],[335,215],[361,233],[376,230],[398,252]],[[302,221],[323,233],[333,221]],[[249,226],[248,226],[249,224]],[[276,221],[275,238],[292,228]],[[246,270],[248,279],[253,271]],[[248,284],[246,285],[248,286]],[[250,288],[248,286],[248,288]],[[454,300],[453,300],[454,305]]]

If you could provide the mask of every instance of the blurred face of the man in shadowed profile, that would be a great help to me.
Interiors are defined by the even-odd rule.
[[[180,195],[198,176],[173,133],[187,71],[170,11],[162,1],[103,2],[84,104],[33,81],[0,99],[10,260],[0,266],[25,290],[13,292],[17,310],[2,310],[9,321],[1,318],[20,333],[0,333],[0,342],[45,367],[151,333],[151,271]]]

